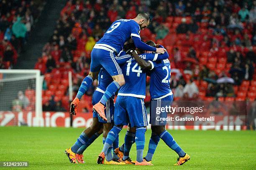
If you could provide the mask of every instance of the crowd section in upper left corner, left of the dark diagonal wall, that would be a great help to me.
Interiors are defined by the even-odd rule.
[[[0,69],[11,69],[43,10],[44,0],[0,1]]]

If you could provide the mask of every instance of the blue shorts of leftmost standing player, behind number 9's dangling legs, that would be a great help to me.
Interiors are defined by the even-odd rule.
[[[103,93],[100,91],[94,91],[93,95],[92,95],[92,105],[95,105],[96,103],[98,103],[100,101],[100,99],[102,98]],[[92,117],[97,117],[99,119],[99,122],[101,123],[112,123],[114,122],[113,120],[113,116],[114,116],[114,101],[112,98],[108,99],[107,103],[105,104],[105,116],[107,117],[107,121],[105,121],[104,119],[102,119],[99,114],[95,111],[93,111],[92,113]]]

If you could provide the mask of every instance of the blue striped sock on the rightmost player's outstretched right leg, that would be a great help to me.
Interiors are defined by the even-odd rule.
[[[172,150],[174,150],[179,157],[184,157],[186,153],[179,147],[177,142],[173,139],[172,135],[166,130],[160,134],[160,138],[168,145]]]

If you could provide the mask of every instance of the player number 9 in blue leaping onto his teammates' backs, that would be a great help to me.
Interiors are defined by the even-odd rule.
[[[100,68],[103,67],[108,71],[113,78],[100,99],[100,101],[93,106],[93,109],[100,114],[100,116],[107,120],[104,114],[104,106],[108,99],[115,94],[115,92],[125,84],[125,79],[120,69],[120,66],[115,61],[115,56],[123,49],[123,45],[131,37],[136,47],[146,51],[156,51],[157,53],[164,53],[164,48],[156,48],[148,46],[141,41],[140,31],[146,28],[150,23],[150,17],[146,13],[139,13],[134,19],[120,19],[116,20],[110,28],[105,32],[104,36],[98,41],[91,52],[90,73],[84,78],[79,88],[76,98],[71,103],[70,112],[77,113],[77,106],[79,105],[82,95],[87,91],[92,81],[96,79]]]

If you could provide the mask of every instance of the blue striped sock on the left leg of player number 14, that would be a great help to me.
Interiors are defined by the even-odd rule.
[[[108,136],[106,138],[106,141],[104,143],[104,147],[102,149],[101,152],[104,152],[104,154],[106,155],[108,152],[108,149],[110,148],[110,146],[113,146],[113,142],[115,141],[116,137],[118,136],[119,132],[122,130],[122,128],[114,126],[109,132],[108,132]],[[112,149],[112,148],[111,148]]]

